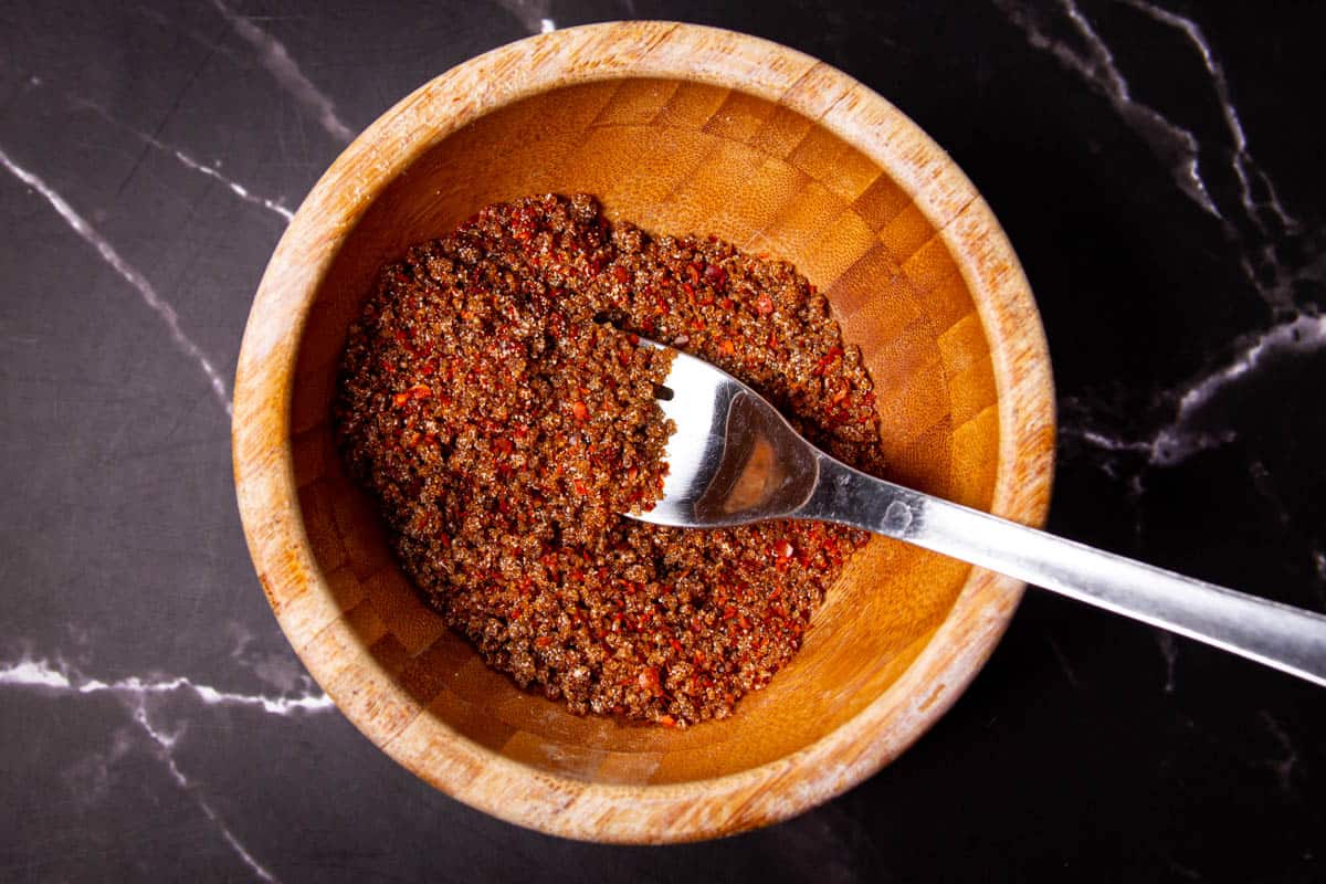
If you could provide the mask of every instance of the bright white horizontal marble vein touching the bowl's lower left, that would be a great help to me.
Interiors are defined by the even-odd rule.
[[[172,679],[139,679],[130,676],[117,681],[88,679],[58,660],[52,665],[48,660],[23,659],[17,663],[0,664],[0,685],[20,688],[49,688],[64,693],[111,693],[123,697],[146,697],[163,693],[192,693],[208,706],[252,706],[273,716],[289,716],[293,712],[324,712],[333,708],[332,698],[325,693],[304,693],[294,697],[269,697],[265,694],[235,693],[220,691],[207,684],[198,684],[183,676]]]

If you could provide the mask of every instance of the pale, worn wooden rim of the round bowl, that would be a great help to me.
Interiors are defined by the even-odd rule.
[[[916,123],[847,74],[760,37],[671,21],[582,25],[499,46],[424,83],[359,134],[309,192],[259,285],[236,370],[232,455],[245,539],[273,612],[310,675],[374,745],[446,794],[520,826],[581,840],[686,842],[788,819],[896,758],[984,665],[1024,587],[973,567],[919,656],[855,717],[790,755],[678,783],[595,783],[512,761],[424,714],[358,648],[312,553],[290,451],[296,362],[314,296],[374,199],[442,139],[540,91],[618,78],[700,81],[781,102],[907,191],[959,264],[992,345],[1000,445],[991,510],[1044,524],[1055,421],[1048,346],[1017,256],[972,183]],[[805,83],[814,89],[797,90]],[[378,147],[383,139],[394,144],[390,155]],[[333,667],[309,653],[314,632],[330,636],[349,661]],[[406,725],[389,728],[355,705],[338,681],[353,667],[366,668],[383,702],[414,706]],[[402,740],[420,720],[435,729]]]

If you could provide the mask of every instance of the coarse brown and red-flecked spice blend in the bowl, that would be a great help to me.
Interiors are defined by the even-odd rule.
[[[651,237],[590,196],[491,205],[383,268],[335,404],[396,555],[489,665],[595,712],[724,718],[801,645],[867,534],[648,525],[671,350],[733,374],[814,444],[880,473],[871,382],[789,264]]]

